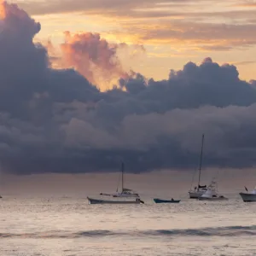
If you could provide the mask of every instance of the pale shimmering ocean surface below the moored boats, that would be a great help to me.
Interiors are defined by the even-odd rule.
[[[0,201],[0,255],[256,255],[256,203],[88,205],[86,196]]]

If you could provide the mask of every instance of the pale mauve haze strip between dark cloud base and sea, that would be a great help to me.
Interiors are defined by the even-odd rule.
[[[193,170],[155,171],[141,174],[125,174],[125,187],[135,189],[140,194],[188,195]],[[238,193],[244,186],[253,189],[256,185],[254,169],[207,169],[202,171],[201,184],[210,183],[218,174],[218,190],[221,193]],[[197,173],[194,184],[197,184]],[[2,174],[1,195],[99,195],[114,192],[119,182],[119,172],[87,174],[33,174],[16,176]],[[193,188],[193,187],[192,187]]]

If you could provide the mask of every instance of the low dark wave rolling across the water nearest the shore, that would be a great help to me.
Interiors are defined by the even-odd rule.
[[[185,230],[136,230],[136,231],[111,231],[111,230],[85,230],[68,232],[65,230],[53,230],[38,233],[0,233],[0,238],[81,238],[101,236],[256,236],[256,225],[251,226],[226,226],[202,229]]]

